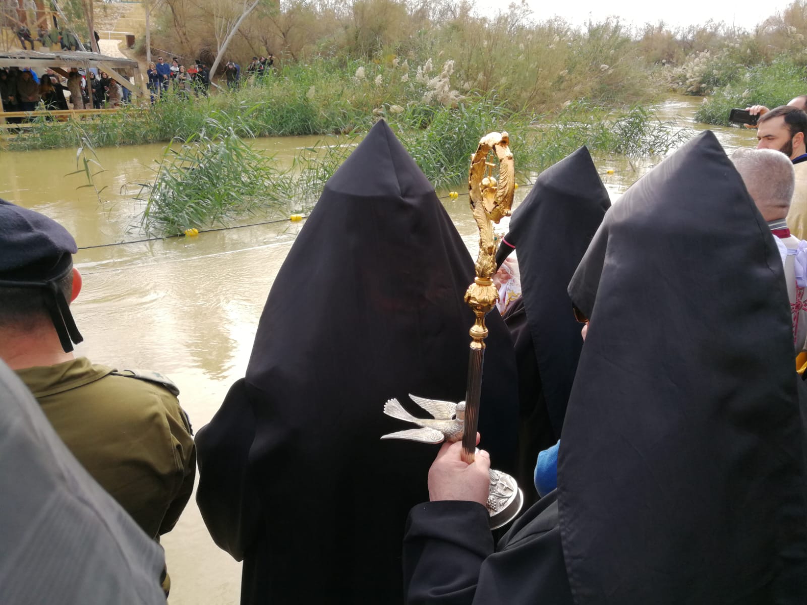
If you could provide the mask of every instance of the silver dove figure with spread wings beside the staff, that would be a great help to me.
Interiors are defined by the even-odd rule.
[[[406,439],[422,443],[442,443],[444,440],[453,443],[462,439],[462,427],[465,424],[465,402],[453,403],[438,399],[427,399],[410,394],[412,401],[432,418],[416,418],[403,409],[398,399],[389,399],[384,404],[384,414],[417,424],[420,428],[409,428],[405,431],[391,432],[382,439]]]

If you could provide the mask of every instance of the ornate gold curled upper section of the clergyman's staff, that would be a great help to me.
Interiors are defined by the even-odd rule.
[[[499,160],[499,178],[493,177],[495,164],[487,161],[491,152]],[[470,209],[479,227],[479,255],[476,257],[476,278],[465,293],[465,302],[476,317],[470,328],[471,348],[484,348],[487,336],[485,315],[492,311],[499,294],[491,279],[495,272],[496,244],[493,224],[510,215],[515,191],[515,169],[510,137],[507,132],[491,132],[479,140],[479,147],[470,157],[468,194]]]

